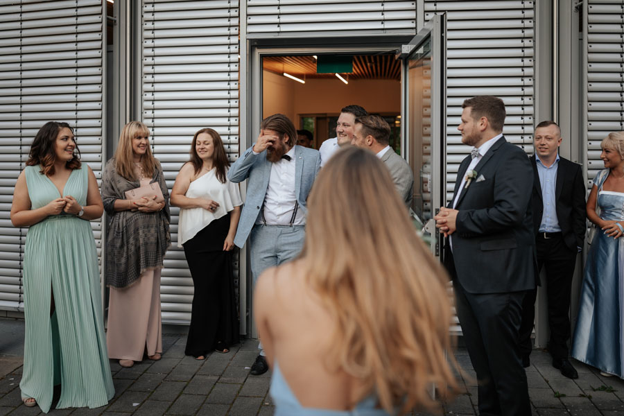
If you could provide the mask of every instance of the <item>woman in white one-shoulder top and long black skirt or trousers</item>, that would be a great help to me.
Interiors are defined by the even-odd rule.
[[[171,205],[180,207],[177,245],[184,247],[195,286],[185,353],[203,360],[239,341],[232,249],[243,201],[238,185],[227,180],[229,161],[215,130],[196,132],[190,153],[175,178]]]

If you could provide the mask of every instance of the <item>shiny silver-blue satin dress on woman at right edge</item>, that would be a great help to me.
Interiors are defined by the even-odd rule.
[[[603,191],[609,169],[593,183],[603,220],[624,220],[624,193]],[[605,372],[624,375],[624,239],[596,230],[585,265],[572,356]]]

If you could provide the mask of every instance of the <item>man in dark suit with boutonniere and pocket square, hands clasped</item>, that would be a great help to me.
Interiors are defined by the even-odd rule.
[[[460,164],[449,207],[435,216],[447,237],[444,265],[453,278],[463,339],[478,379],[480,415],[531,414],[518,334],[521,305],[535,288],[533,170],[503,137],[505,105],[494,96],[464,101]]]

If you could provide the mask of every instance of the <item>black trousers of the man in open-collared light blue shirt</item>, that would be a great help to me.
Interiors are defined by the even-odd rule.
[[[561,235],[544,239],[538,234],[537,266],[546,268],[546,296],[548,300],[548,326],[551,338],[548,351],[556,359],[568,358],[570,340],[570,295],[577,250],[570,250]],[[529,291],[522,302],[522,324],[520,325],[520,352],[522,356],[531,354],[531,332],[535,320],[535,298],[537,288]]]

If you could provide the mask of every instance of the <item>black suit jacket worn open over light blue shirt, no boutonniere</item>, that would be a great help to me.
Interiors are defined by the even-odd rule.
[[[537,173],[535,155],[530,157],[533,165],[533,231],[539,232],[541,216],[544,214],[544,200],[541,198],[541,184]],[[580,164],[559,158],[557,181],[555,182],[555,211],[564,242],[570,250],[583,246],[585,239],[585,186]]]

